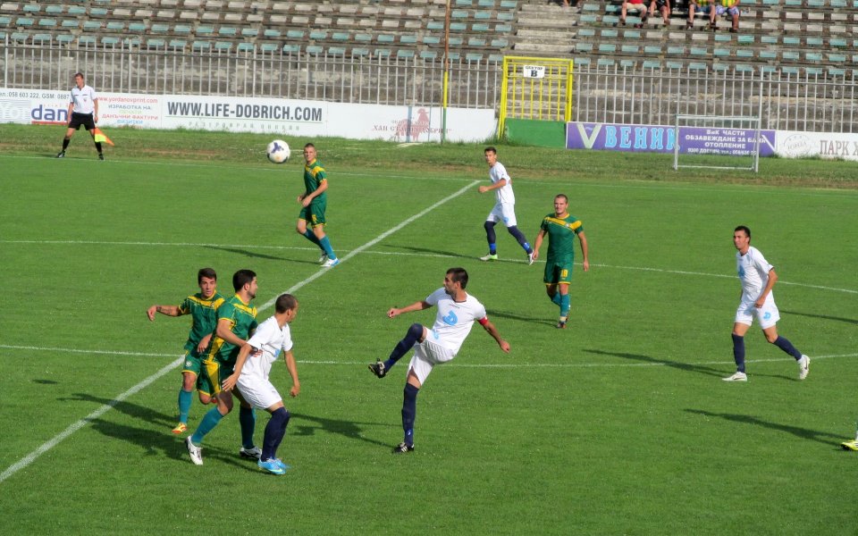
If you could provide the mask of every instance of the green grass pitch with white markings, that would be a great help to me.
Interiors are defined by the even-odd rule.
[[[670,157],[499,146],[519,228],[551,199],[585,224],[572,319],[557,331],[543,264],[504,230],[484,264],[491,194],[483,147],[317,141],[328,233],[344,259],[320,274],[294,231],[303,138],[265,161],[270,136],[113,130],[98,162],[80,132],[0,126],[0,532],[4,534],[825,534],[854,531],[858,456],[858,166],[763,160],[761,174],[672,172]],[[280,138],[280,136],[278,136]],[[730,328],[740,223],[777,267],[781,334],[811,373],[749,331],[746,384]],[[580,263],[580,251],[576,250]],[[543,246],[543,258],[545,249]],[[366,370],[450,266],[509,340],[475,326],[417,398],[401,440],[406,366]],[[196,272],[257,272],[257,306],[293,289],[302,390],[267,476],[240,459],[237,415],[189,461],[175,424],[175,364]],[[260,317],[272,314],[270,306]],[[273,382],[288,391],[275,364]],[[193,430],[206,411],[195,399]],[[257,441],[267,422],[257,413]]]

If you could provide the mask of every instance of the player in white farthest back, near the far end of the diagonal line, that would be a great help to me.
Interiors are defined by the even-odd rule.
[[[516,195],[512,191],[512,178],[509,177],[507,168],[498,162],[498,150],[494,147],[485,147],[484,151],[485,163],[489,164],[489,180],[492,181],[492,186],[481,186],[479,191],[481,194],[494,191],[495,203],[492,207],[492,212],[485,218],[485,239],[489,242],[489,253],[480,257],[481,261],[496,261],[498,260],[497,236],[494,234],[494,226],[498,222],[503,222],[506,225],[509,234],[511,234],[518,244],[524,248],[527,254],[527,264],[534,264],[530,254],[534,250],[527,243],[524,233],[517,228],[516,220]]]

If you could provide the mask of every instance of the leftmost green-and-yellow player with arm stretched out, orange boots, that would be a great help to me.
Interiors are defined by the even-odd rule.
[[[186,297],[178,306],[151,306],[146,314],[150,321],[155,320],[155,314],[167,316],[183,316],[190,314],[190,332],[185,342],[185,361],[181,368],[181,389],[179,389],[179,424],[172,433],[182,433],[188,430],[188,414],[194,385],[197,386],[199,401],[208,404],[212,397],[203,387],[202,370],[203,354],[212,339],[214,326],[217,323],[217,308],[223,304],[223,296],[217,292],[217,273],[212,268],[203,268],[197,273],[199,292]],[[204,392],[206,391],[206,392]]]

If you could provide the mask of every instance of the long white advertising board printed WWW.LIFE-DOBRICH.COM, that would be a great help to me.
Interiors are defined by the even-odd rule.
[[[0,122],[64,124],[68,91],[0,88]],[[261,97],[98,93],[104,128],[195,129],[305,136],[440,141],[440,106],[350,105]],[[496,130],[492,110],[448,108],[447,139],[482,141]]]

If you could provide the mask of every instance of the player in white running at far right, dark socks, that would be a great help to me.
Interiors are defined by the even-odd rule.
[[[733,358],[736,360],[736,373],[724,378],[724,381],[748,381],[744,373],[744,334],[756,316],[762,333],[771,344],[777,346],[798,362],[798,379],[807,377],[811,358],[799,352],[789,340],[778,335],[778,306],[771,293],[778,281],[778,274],[760,250],[751,246],[751,230],[739,225],[733,231],[733,245],[736,247],[736,273],[742,281],[742,299],[736,309],[733,323]]]

